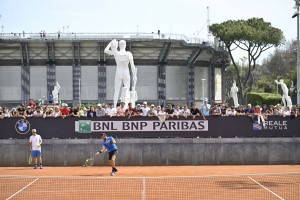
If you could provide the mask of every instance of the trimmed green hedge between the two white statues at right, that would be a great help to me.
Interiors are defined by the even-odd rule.
[[[281,103],[282,96],[274,93],[255,93],[249,92],[247,94],[247,102],[255,105],[276,105]]]

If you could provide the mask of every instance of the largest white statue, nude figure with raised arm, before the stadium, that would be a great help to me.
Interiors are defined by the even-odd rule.
[[[118,51],[118,46],[120,48],[119,51]],[[107,47],[104,50],[104,53],[114,56],[117,64],[117,70],[115,76],[114,107],[117,106],[120,87],[123,84],[124,87],[122,87],[121,101],[125,103],[125,106],[127,107],[128,103],[131,102],[132,107],[135,107],[135,102],[138,99],[135,90],[136,81],[137,81],[137,70],[134,65],[133,56],[131,52],[126,51],[125,48],[126,48],[125,40],[120,40],[118,44],[118,41],[114,39],[107,45]],[[128,67],[129,63],[131,66],[132,79],[133,79],[133,85],[131,87],[131,91],[129,91],[130,89],[130,73]]]

